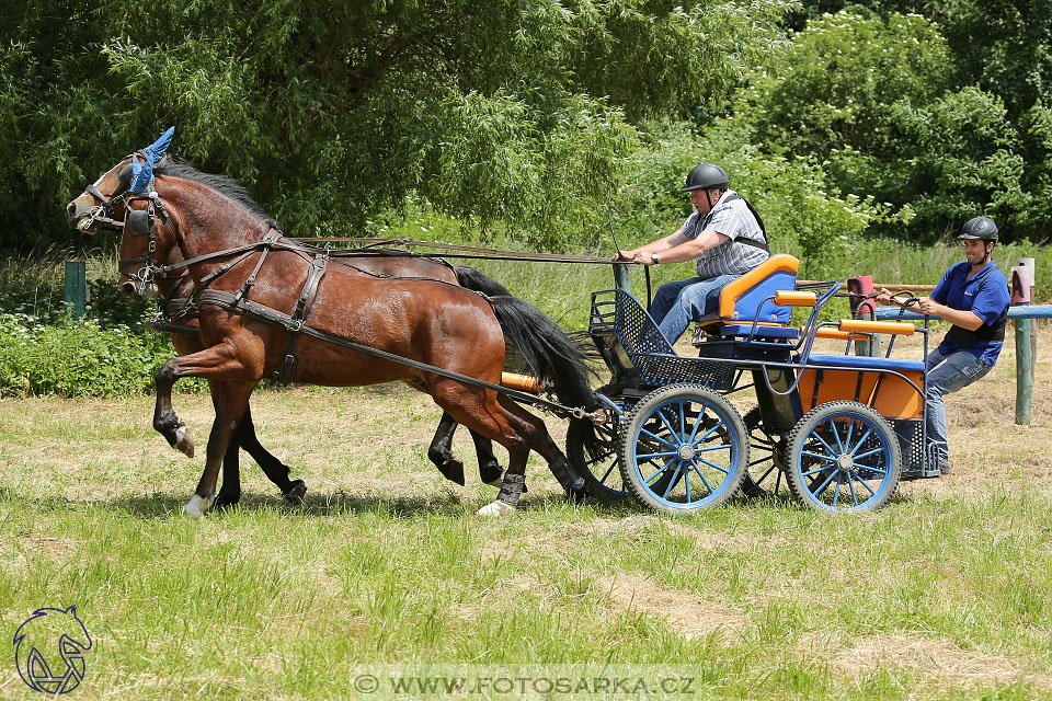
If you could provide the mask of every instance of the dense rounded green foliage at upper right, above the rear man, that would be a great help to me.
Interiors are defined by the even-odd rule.
[[[825,14],[794,36],[781,65],[752,81],[737,106],[767,152],[824,158],[843,192],[897,208],[902,216],[888,231],[930,241],[985,214],[1009,239],[1042,239],[1047,110],[1030,105],[1017,122],[1018,104],[1007,99],[1018,93],[962,87],[970,51],[919,15]]]

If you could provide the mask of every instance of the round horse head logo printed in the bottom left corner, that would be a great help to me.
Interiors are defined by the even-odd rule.
[[[34,691],[67,693],[84,678],[84,653],[91,650],[88,629],[77,607],[37,609],[14,634],[14,662],[22,681]]]

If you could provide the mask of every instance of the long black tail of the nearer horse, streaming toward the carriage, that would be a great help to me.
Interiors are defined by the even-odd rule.
[[[583,345],[574,343],[539,309],[516,297],[494,297],[490,303],[506,343],[518,350],[530,375],[551,388],[560,403],[594,411],[596,400],[588,382]],[[569,430],[580,434],[588,455],[599,455],[602,444],[591,421],[572,418]]]

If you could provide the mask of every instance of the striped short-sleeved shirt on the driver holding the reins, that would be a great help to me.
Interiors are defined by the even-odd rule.
[[[736,241],[741,238],[762,243],[764,232],[744,199],[727,202],[728,197],[734,194],[733,189],[728,189],[708,215],[702,217],[695,211],[679,228],[679,233],[691,240],[697,239],[706,229],[730,239],[698,256],[698,277],[709,279],[718,275],[741,275],[770,257],[770,254],[762,249]]]

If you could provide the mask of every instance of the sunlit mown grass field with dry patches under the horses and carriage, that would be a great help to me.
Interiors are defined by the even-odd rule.
[[[1009,343],[949,398],[954,472],[864,518],[573,506],[535,459],[518,514],[484,520],[473,459],[468,486],[444,482],[438,411],[388,386],[259,394],[306,505],[245,458],[242,504],[194,521],[201,461],[152,432],[150,398],[0,400],[0,648],[77,605],[94,646],[67,698],[409,698],[391,680],[434,675],[469,698],[558,676],[673,679],[651,698],[1052,698],[1050,347],[1045,325],[1029,427]],[[206,435],[207,397],[176,402]],[[0,698],[36,698],[7,650]]]

